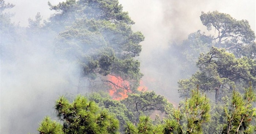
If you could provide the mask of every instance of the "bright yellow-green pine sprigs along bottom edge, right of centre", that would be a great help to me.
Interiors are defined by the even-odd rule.
[[[150,92],[147,94],[150,94]],[[129,101],[132,101],[132,99]],[[139,103],[137,103],[137,106],[139,106]],[[210,121],[209,100],[205,95],[201,95],[198,89],[193,90],[191,98],[186,100],[179,109],[169,109],[169,113],[173,117],[168,117],[163,122],[159,122],[160,124],[154,125],[150,117],[141,115],[136,127],[131,122],[127,123],[125,134],[133,134],[135,130],[138,131],[138,134],[202,133],[201,126]],[[187,132],[184,130],[187,130]]]

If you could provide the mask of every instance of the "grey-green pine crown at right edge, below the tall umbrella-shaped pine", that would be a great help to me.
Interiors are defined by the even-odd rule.
[[[178,92],[181,96],[188,96],[190,89],[198,84],[200,90],[215,90],[215,101],[218,101],[221,98],[219,95],[230,93],[233,86],[241,88],[243,84],[256,82],[255,60],[246,57],[237,59],[224,49],[212,47],[207,54],[200,54],[197,67],[199,71],[190,79],[179,80]]]

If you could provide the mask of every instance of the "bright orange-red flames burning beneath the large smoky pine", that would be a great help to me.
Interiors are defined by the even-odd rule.
[[[108,81],[111,89],[109,90],[109,95],[112,96],[114,100],[122,100],[128,97],[128,93],[131,93],[129,82],[123,80],[119,76],[108,75]],[[121,90],[120,90],[121,89]],[[140,80],[140,86],[138,91],[146,91],[147,87],[144,86],[143,81]]]

